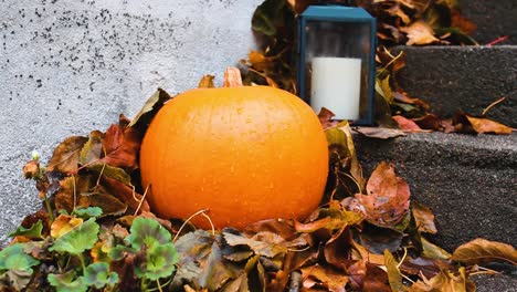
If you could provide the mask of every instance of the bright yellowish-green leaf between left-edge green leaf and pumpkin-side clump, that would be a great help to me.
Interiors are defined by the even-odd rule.
[[[57,238],[50,250],[80,254],[85,250],[92,249],[95,242],[97,242],[98,230],[99,227],[95,222],[95,218],[89,218],[72,231]]]

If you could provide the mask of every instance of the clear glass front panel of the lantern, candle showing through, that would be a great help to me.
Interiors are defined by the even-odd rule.
[[[316,112],[358,121],[370,111],[371,22],[307,20],[305,92]],[[323,96],[323,97],[321,97]],[[334,104],[327,104],[329,101]],[[337,101],[337,103],[336,103]],[[339,108],[331,108],[331,107]]]

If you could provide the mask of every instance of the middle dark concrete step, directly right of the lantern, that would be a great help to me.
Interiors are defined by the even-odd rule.
[[[412,97],[430,103],[434,113],[443,117],[451,117],[457,111],[481,114],[483,108],[506,96],[505,102],[488,112],[488,117],[517,127],[517,45],[397,46],[393,50],[400,51],[405,53],[407,65],[394,80]]]

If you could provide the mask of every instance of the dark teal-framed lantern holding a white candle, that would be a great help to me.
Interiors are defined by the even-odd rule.
[[[376,19],[362,8],[310,6],[298,25],[299,96],[316,113],[373,124]]]

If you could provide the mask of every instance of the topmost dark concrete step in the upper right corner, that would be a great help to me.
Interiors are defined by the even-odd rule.
[[[462,15],[477,25],[472,36],[479,44],[486,44],[503,35],[509,38],[502,43],[517,44],[517,0],[458,2]]]

